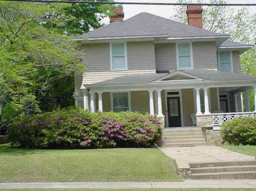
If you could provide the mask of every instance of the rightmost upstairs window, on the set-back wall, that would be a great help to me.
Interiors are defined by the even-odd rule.
[[[231,51],[218,52],[218,70],[226,73],[233,73]]]

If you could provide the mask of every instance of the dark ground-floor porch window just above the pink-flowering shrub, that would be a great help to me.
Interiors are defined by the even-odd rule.
[[[129,92],[118,92],[112,94],[113,112],[123,112],[130,110]]]

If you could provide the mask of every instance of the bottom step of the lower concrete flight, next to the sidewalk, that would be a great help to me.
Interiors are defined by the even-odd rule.
[[[196,173],[190,179],[256,179],[256,171],[252,172],[218,172]]]

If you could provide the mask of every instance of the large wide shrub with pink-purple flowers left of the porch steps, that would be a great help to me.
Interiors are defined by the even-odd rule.
[[[157,118],[141,113],[68,108],[15,122],[9,138],[28,148],[148,147],[159,137],[161,126]]]

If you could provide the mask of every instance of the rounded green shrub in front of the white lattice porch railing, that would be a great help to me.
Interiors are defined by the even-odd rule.
[[[256,118],[234,118],[221,126],[221,137],[230,145],[256,145]]]

